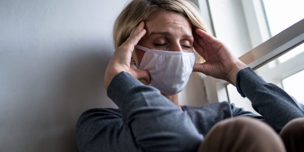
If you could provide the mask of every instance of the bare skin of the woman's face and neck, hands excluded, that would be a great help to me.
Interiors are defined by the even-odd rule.
[[[140,46],[163,51],[193,52],[194,37],[191,24],[180,14],[168,11],[156,13],[145,22],[144,29],[146,33],[138,42]],[[139,49],[132,53],[132,59],[137,67],[143,55],[144,51]],[[180,107],[178,94],[162,95]]]

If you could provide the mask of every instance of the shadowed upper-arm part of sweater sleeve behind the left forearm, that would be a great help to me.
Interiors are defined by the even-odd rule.
[[[131,134],[123,124],[119,109],[112,108],[93,108],[83,112],[75,130],[80,152],[143,151]]]

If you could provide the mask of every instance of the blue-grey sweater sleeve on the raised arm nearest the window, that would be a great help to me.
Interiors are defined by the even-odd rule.
[[[236,87],[243,97],[251,101],[264,121],[278,132],[290,120],[304,117],[304,105],[278,86],[266,83],[249,67],[238,72]]]

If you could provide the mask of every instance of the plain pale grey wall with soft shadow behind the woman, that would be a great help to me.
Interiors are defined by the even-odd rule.
[[[80,114],[116,107],[103,74],[126,2],[0,1],[0,151],[77,151]],[[201,104],[200,87],[182,104]]]

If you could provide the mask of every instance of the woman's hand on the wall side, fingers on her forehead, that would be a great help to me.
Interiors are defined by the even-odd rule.
[[[146,70],[133,69],[130,67],[134,46],[137,45],[145,32],[144,22],[140,22],[139,25],[132,30],[128,39],[117,48],[105,70],[104,87],[106,90],[115,75],[122,71],[130,73],[136,79],[144,80],[147,83],[150,82],[150,76]]]

